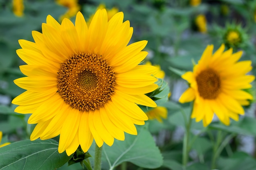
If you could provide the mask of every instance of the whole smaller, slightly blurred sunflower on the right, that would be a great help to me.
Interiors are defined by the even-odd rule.
[[[252,95],[243,91],[251,88],[253,75],[246,75],[252,70],[251,61],[238,62],[242,51],[232,54],[232,49],[224,52],[225,46],[213,53],[213,45],[207,46],[193,72],[182,75],[190,87],[182,94],[179,102],[194,100],[191,118],[203,121],[204,126],[211,123],[213,113],[229,125],[229,118],[236,121],[245,113],[242,106],[248,105]]]

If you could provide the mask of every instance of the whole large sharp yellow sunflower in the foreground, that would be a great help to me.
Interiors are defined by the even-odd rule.
[[[124,132],[137,135],[134,124],[148,120],[137,104],[156,107],[144,95],[157,88],[156,68],[138,65],[147,41],[128,45],[133,29],[123,19],[119,12],[108,21],[106,9],[98,10],[88,28],[81,12],[75,25],[48,15],[43,33],[32,31],[35,42],[19,40],[27,77],[14,83],[27,91],[12,103],[16,112],[32,113],[31,140],[60,135],[58,152],[71,155],[79,145],[87,152],[93,139],[101,147],[124,140]]]

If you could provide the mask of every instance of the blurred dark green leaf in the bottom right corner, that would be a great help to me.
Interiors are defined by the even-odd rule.
[[[245,152],[236,152],[229,158],[220,157],[220,170],[255,170],[256,160]]]

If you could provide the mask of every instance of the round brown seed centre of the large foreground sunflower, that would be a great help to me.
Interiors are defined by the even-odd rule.
[[[57,77],[58,92],[72,108],[96,110],[115,92],[115,73],[100,55],[73,54],[61,64]]]

